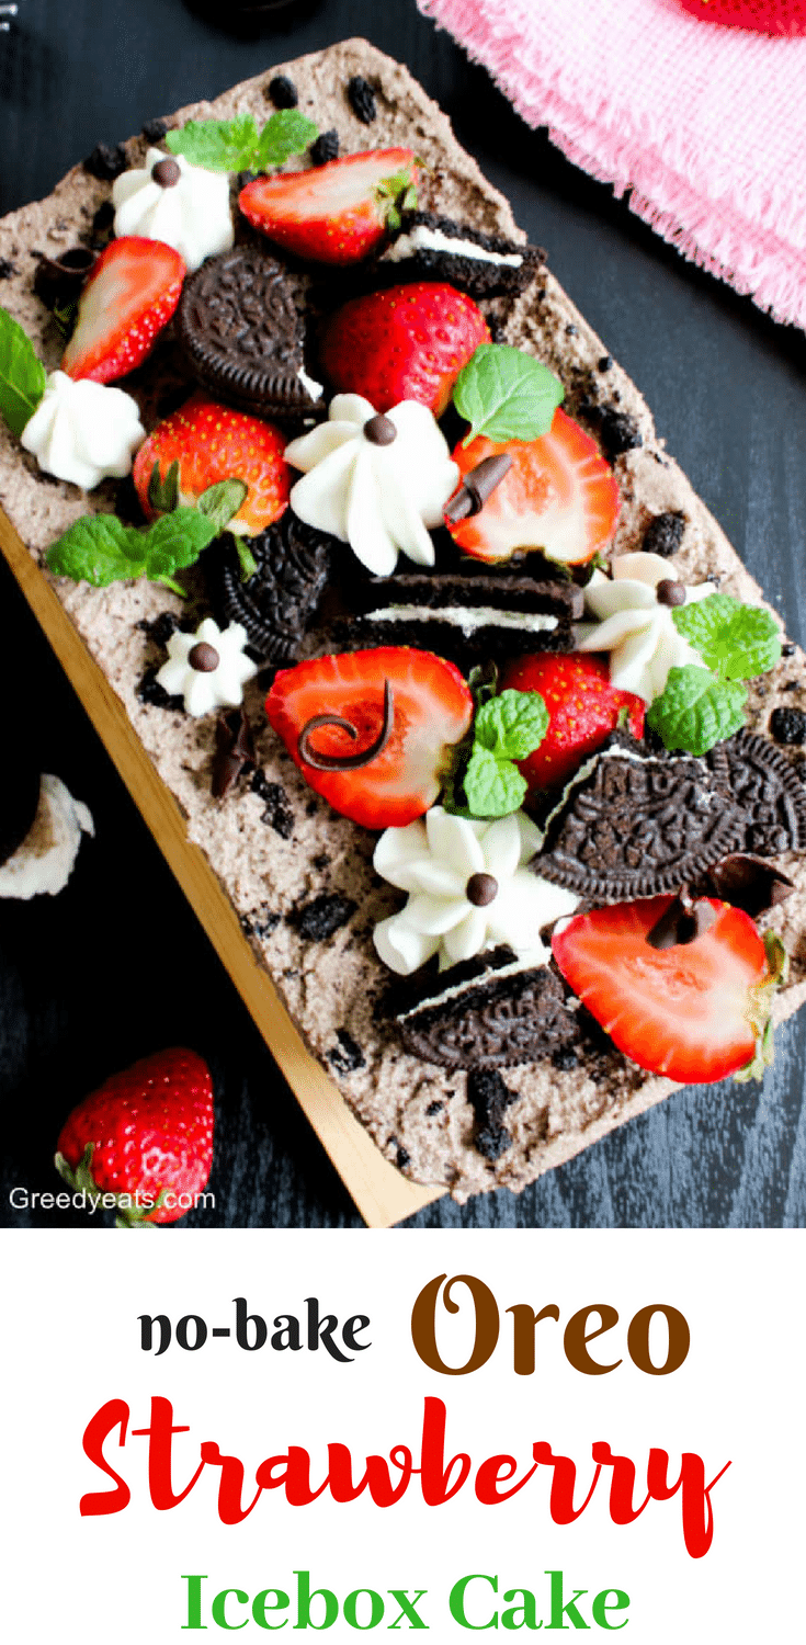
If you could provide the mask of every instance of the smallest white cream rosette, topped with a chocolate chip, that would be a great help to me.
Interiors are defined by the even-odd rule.
[[[199,623],[196,633],[173,633],[168,661],[156,674],[158,686],[173,697],[184,699],[188,714],[211,714],[234,709],[243,701],[247,679],[257,674],[257,663],[243,656],[247,630],[239,622],[219,628],[212,617]]]

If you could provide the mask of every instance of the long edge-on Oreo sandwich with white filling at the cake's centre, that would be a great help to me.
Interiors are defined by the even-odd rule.
[[[531,577],[403,572],[357,586],[349,640],[413,645],[470,668],[528,651],[571,651],[582,591]]]

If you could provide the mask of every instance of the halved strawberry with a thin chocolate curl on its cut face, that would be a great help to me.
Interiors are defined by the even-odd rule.
[[[281,670],[266,714],[311,788],[354,822],[382,829],[405,827],[434,804],[474,699],[441,656],[380,646]]]

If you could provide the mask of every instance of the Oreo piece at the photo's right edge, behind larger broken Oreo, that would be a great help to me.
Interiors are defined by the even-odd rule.
[[[730,795],[745,819],[739,849],[757,857],[806,850],[806,791],[786,753],[750,730],[737,732],[722,748]]]

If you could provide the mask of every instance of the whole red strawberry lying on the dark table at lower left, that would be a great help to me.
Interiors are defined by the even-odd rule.
[[[84,1097],[56,1153],[71,1188],[118,1198],[118,1227],[176,1222],[211,1165],[211,1073],[196,1051],[176,1048],[132,1063]]]

